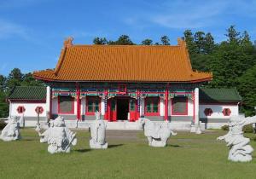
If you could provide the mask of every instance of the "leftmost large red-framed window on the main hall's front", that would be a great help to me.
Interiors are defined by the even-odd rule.
[[[58,113],[73,113],[73,101],[71,95],[59,95]]]

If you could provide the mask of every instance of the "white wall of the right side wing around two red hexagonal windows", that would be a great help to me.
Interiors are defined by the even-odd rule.
[[[206,108],[212,109],[212,115],[206,116],[204,111]],[[230,116],[238,115],[239,114],[239,107],[238,105],[222,105],[222,104],[203,104],[199,105],[199,117],[200,118],[230,118],[230,116],[224,116],[222,113],[224,108],[230,108],[231,114]]]

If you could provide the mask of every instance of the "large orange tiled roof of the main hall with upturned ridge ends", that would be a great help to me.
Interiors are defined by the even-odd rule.
[[[186,44],[177,46],[73,45],[64,43],[55,70],[33,73],[49,81],[196,82],[212,73],[193,72]]]

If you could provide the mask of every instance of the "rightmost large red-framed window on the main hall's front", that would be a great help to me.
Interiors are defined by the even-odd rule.
[[[176,96],[172,99],[172,115],[188,115],[188,98]]]

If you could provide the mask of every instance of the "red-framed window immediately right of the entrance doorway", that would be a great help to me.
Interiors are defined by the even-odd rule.
[[[145,115],[157,116],[159,113],[159,97],[145,98]]]

